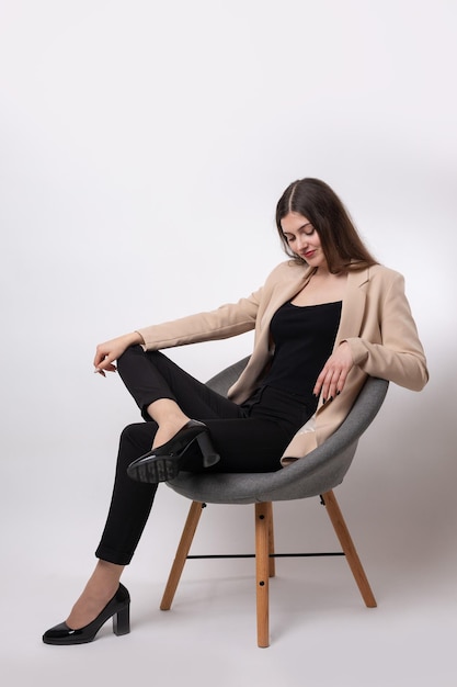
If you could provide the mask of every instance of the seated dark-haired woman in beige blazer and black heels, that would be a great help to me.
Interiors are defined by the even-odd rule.
[[[117,634],[129,631],[129,595],[119,579],[159,482],[183,468],[278,470],[338,428],[367,375],[414,391],[426,384],[403,278],[370,256],[335,193],[318,179],[292,183],[276,225],[289,259],[249,297],[98,346],[95,372],[117,369],[147,421],[121,436],[98,564],[66,622],[44,634],[46,643],[92,641],[111,617]],[[160,352],[252,329],[252,356],[228,398]]]

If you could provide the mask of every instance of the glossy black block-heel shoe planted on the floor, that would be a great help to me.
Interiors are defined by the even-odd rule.
[[[72,630],[66,622],[60,622],[60,624],[56,624],[43,634],[43,641],[45,644],[60,645],[85,644],[88,642],[92,642],[100,628],[110,618],[113,618],[114,634],[121,635],[129,633],[130,595],[122,584],[119,584],[116,594],[98,615],[95,620],[92,620],[92,622],[83,628],[80,628],[79,630]]]

